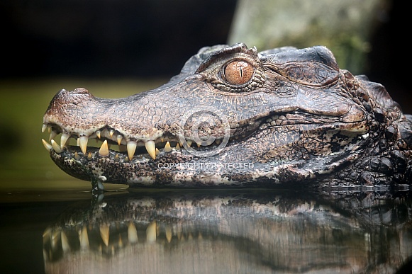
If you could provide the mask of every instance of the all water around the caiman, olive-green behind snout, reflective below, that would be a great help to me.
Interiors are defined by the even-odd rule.
[[[52,96],[78,86],[121,97],[157,83],[0,83],[1,273],[396,273],[411,264],[408,192],[106,185],[104,197],[91,195],[40,141]]]

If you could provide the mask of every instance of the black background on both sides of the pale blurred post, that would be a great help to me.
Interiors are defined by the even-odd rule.
[[[412,112],[407,5],[393,1],[372,36],[364,73]],[[226,43],[235,6],[235,0],[2,0],[0,79],[170,77],[199,48]]]

